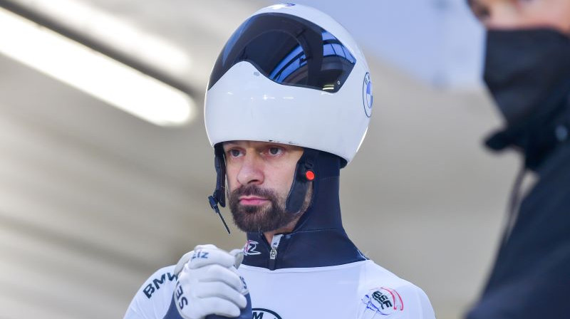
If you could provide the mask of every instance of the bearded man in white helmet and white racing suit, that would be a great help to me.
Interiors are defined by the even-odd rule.
[[[225,205],[227,181],[247,243],[195,247],[142,284],[125,318],[435,318],[425,293],[366,258],[341,223],[340,169],[372,103],[363,53],[331,17],[294,4],[249,17],[222,49],[204,105],[210,204]]]

